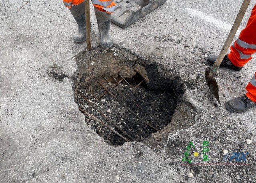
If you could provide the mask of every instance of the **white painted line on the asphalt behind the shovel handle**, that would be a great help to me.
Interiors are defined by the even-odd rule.
[[[192,9],[192,8],[187,8],[187,12],[188,14],[194,16],[195,18],[204,20],[206,22],[209,22],[210,24],[213,24],[214,26],[221,28],[222,30],[225,30],[227,32],[229,32],[232,28],[232,25],[227,24],[225,22],[222,22],[221,20],[218,20],[216,18],[213,18],[212,16],[209,16],[205,13],[202,13],[198,10]],[[234,20],[235,21],[235,20]],[[239,36],[240,32],[242,29],[238,28],[237,32],[236,32],[236,36]]]

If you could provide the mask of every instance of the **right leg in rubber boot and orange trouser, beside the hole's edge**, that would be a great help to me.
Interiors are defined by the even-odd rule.
[[[116,4],[113,0],[92,0],[92,4],[100,32],[100,46],[110,48],[113,45],[110,34],[111,13],[114,12]]]

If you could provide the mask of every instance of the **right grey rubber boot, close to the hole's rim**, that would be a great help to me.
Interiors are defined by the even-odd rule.
[[[102,48],[110,48],[113,46],[113,40],[110,34],[111,14],[102,12],[96,8],[94,8],[94,11],[100,32],[100,46]]]

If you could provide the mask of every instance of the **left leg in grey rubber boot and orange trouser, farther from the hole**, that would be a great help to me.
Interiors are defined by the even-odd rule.
[[[84,42],[86,40],[84,0],[63,0],[63,2],[77,23],[78,29],[74,34],[74,42]]]

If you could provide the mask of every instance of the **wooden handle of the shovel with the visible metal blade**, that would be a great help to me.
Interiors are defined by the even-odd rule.
[[[236,35],[236,31],[238,30],[242,19],[244,18],[244,14],[250,4],[251,0],[244,0],[244,2],[242,3],[242,6],[236,16],[236,20],[228,34],[228,38],[226,39],[225,44],[223,45],[220,54],[218,55],[218,58],[216,59],[214,65],[212,66],[211,71],[214,72],[214,74],[217,72],[218,68],[220,67],[220,64],[226,54],[226,52],[228,51],[228,48],[230,46],[230,44],[232,43],[232,40],[234,39],[235,35]]]

